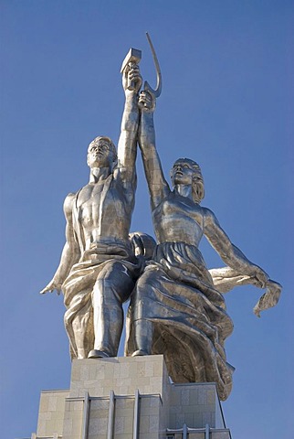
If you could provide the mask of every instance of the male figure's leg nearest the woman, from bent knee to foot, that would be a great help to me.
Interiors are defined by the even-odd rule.
[[[117,355],[123,327],[122,303],[133,286],[123,262],[109,262],[100,272],[92,293],[95,344],[89,358]]]

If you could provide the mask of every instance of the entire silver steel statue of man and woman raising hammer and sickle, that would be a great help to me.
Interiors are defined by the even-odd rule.
[[[233,323],[223,293],[240,284],[267,287],[254,309],[259,316],[277,304],[281,286],[248,261],[214,213],[200,205],[205,196],[200,166],[178,159],[171,171],[173,189],[163,176],[153,124],[162,77],[148,40],[156,89],[145,82],[139,94],[141,53],[131,49],[121,68],[125,107],[118,155],[108,137],[89,144],[89,184],[65,200],[67,242],[57,272],[41,293],[64,293],[71,357],[78,359],[117,355],[122,303],[131,295],[125,355],[163,354],[174,382],[215,381],[220,398],[226,400],[234,368],[226,362],[224,343]],[[156,246],[142,233],[129,235],[137,142],[151,195]],[[206,268],[198,249],[204,235],[226,267]],[[142,273],[143,258],[150,259],[153,249]]]

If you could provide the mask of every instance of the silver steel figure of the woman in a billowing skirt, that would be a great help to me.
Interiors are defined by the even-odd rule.
[[[280,285],[229,240],[214,213],[200,206],[205,196],[200,166],[178,159],[171,171],[173,190],[163,176],[155,148],[152,92],[139,98],[139,145],[151,196],[157,246],[131,294],[126,355],[164,354],[174,382],[215,381],[226,400],[234,368],[224,342],[233,330],[222,291],[236,284],[269,290],[256,313],[275,305]],[[198,249],[203,235],[227,267],[209,272]],[[215,278],[215,284],[214,284]]]

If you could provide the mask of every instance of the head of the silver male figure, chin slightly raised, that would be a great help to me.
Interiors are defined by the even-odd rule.
[[[87,164],[93,167],[110,167],[113,169],[118,161],[116,148],[109,137],[96,137],[88,147]]]

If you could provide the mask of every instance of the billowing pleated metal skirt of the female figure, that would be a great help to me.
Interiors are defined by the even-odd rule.
[[[226,400],[234,368],[224,342],[233,331],[225,300],[214,287],[201,252],[184,242],[159,244],[131,294],[126,354],[131,355],[131,322],[154,324],[152,354],[163,354],[173,382],[215,382]]]

